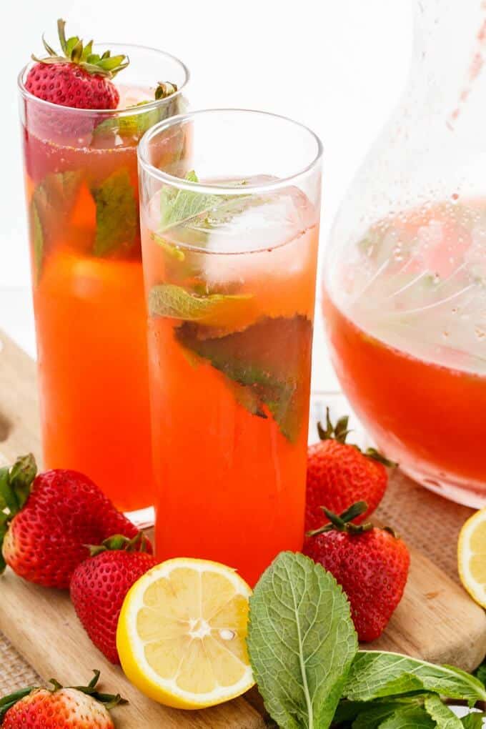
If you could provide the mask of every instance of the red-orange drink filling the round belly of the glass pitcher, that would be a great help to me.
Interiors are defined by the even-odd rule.
[[[486,201],[452,200],[372,227],[324,297],[358,416],[411,475],[474,504],[486,499],[485,282]]]

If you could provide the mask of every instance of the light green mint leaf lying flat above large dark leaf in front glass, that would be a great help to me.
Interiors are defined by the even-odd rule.
[[[218,315],[219,311],[234,311],[245,307],[249,294],[208,294],[198,296],[189,293],[181,286],[159,284],[152,286],[149,292],[149,312],[152,316],[169,316],[184,321],[208,322]],[[214,319],[213,319],[214,320]]]

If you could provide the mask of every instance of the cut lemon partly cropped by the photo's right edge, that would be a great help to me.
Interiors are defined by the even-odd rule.
[[[486,607],[486,507],[473,514],[460,530],[460,581],[479,605]]]

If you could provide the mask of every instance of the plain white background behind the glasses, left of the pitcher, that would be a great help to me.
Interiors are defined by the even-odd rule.
[[[56,44],[56,19],[86,40],[168,50],[192,73],[193,108],[286,114],[324,143],[321,246],[353,173],[399,100],[415,0],[0,0],[0,327],[34,350],[17,71]],[[283,150],[285,153],[285,150]]]

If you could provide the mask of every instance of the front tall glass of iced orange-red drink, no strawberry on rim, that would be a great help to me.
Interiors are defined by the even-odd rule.
[[[138,158],[157,556],[254,583],[302,547],[321,143],[208,110],[154,127]]]

